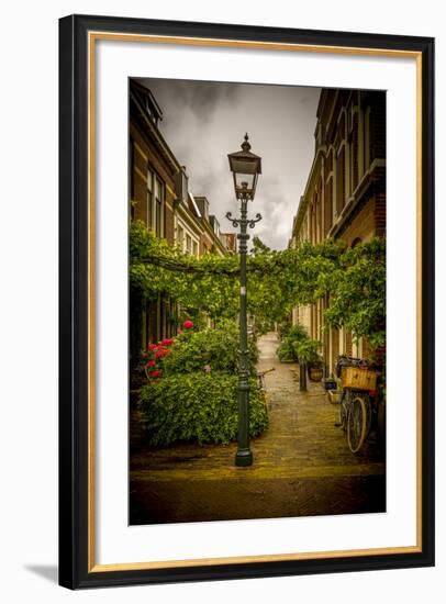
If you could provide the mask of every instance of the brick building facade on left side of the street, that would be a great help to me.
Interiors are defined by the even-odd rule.
[[[176,158],[159,131],[163,111],[145,86],[131,80],[129,94],[129,199],[130,220],[182,251],[227,254],[215,233],[212,216],[200,208],[189,190],[185,166]],[[148,343],[177,332],[178,306],[166,297],[142,303],[130,299],[130,349],[136,359]]]

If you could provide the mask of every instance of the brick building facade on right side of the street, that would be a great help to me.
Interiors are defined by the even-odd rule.
[[[314,132],[315,153],[290,246],[342,239],[348,246],[386,234],[386,93],[323,89]],[[323,343],[328,371],[339,354],[367,357],[367,342],[354,344],[345,329],[323,328],[330,300],[299,306],[292,323]]]

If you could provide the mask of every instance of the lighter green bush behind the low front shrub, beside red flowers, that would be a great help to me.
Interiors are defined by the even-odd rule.
[[[163,360],[163,376],[202,371],[210,366],[212,371],[236,373],[238,368],[238,328],[234,322],[225,322],[215,329],[185,332],[177,336],[169,355]],[[257,347],[249,340],[249,360],[254,368]]]

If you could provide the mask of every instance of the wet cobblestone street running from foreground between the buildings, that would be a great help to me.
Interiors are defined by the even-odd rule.
[[[383,512],[384,462],[372,439],[353,455],[321,383],[299,392],[299,366],[281,363],[275,333],[259,339],[269,428],[236,468],[236,444],[146,447],[131,414],[131,524]]]

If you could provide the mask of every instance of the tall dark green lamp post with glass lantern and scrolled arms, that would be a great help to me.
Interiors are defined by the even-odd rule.
[[[239,241],[241,257],[241,292],[239,292],[239,369],[238,369],[238,447],[235,456],[236,466],[250,466],[253,452],[249,448],[249,362],[248,362],[248,336],[246,314],[246,254],[248,250],[247,227],[254,228],[256,222],[261,220],[260,214],[255,219],[247,217],[247,203],[254,200],[258,175],[261,174],[261,158],[250,153],[248,135],[242,143],[242,150],[231,153],[228,156],[230,169],[234,178],[234,191],[241,202],[241,215],[233,219],[227,212],[226,219],[233,226],[239,227],[237,239]]]

